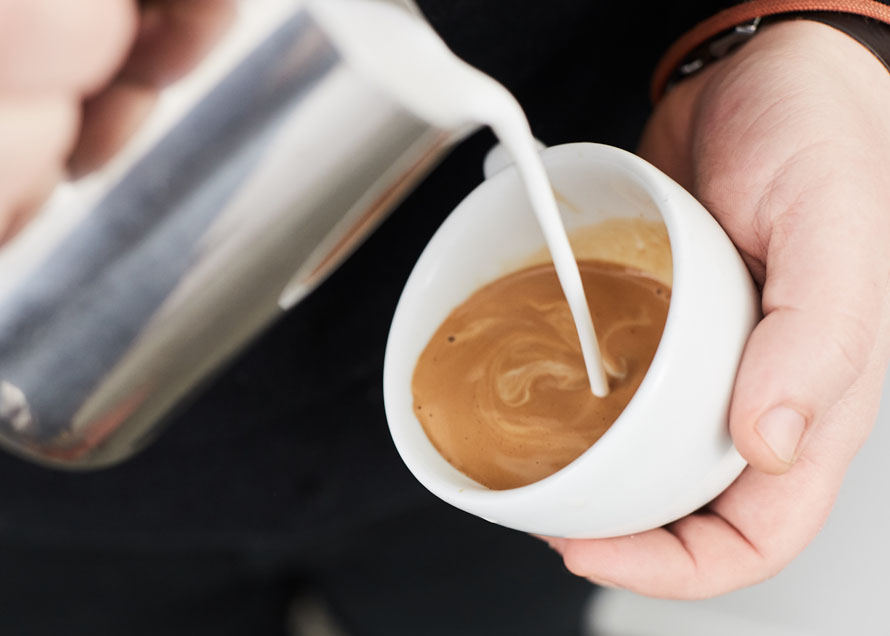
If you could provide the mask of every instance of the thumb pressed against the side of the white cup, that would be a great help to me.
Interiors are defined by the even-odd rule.
[[[756,469],[787,471],[868,363],[888,274],[874,230],[861,216],[810,210],[773,224],[764,318],[746,345],[730,408],[733,441]]]

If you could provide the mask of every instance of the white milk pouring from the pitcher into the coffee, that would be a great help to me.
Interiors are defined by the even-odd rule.
[[[528,120],[506,88],[455,56],[421,18],[379,0],[308,5],[349,65],[398,103],[444,130],[487,125],[513,157],[572,312],[598,397],[609,392],[581,275]]]

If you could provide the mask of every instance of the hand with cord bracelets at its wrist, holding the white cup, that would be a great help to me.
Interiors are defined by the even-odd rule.
[[[605,540],[551,540],[576,574],[709,597],[787,565],[825,521],[875,419],[888,356],[890,75],[815,22],[776,24],[678,85],[641,154],[695,194],[763,289],[730,428],[750,466],[704,509]]]

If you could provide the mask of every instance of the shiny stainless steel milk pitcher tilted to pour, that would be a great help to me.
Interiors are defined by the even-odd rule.
[[[457,138],[357,77],[301,3],[207,84],[98,194],[0,251],[6,449],[129,456]]]

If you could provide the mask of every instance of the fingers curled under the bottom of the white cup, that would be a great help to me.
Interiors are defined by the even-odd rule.
[[[837,494],[843,462],[802,460],[781,476],[748,468],[707,508],[664,528],[547,541],[574,574],[646,596],[700,599],[753,585],[812,540]]]

